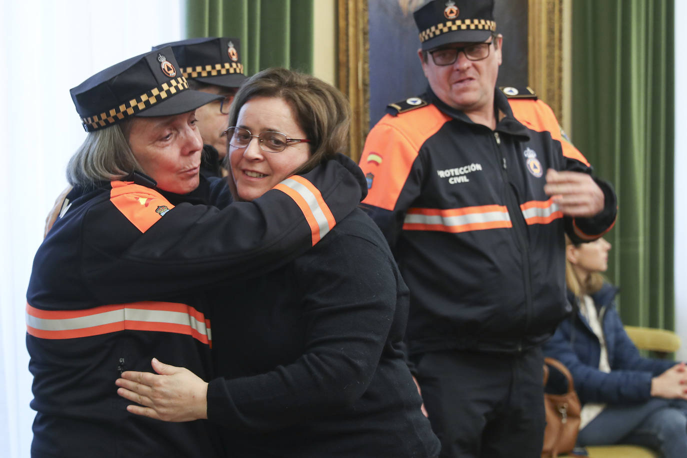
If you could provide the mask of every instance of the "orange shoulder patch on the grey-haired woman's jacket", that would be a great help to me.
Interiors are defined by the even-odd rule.
[[[150,229],[174,208],[166,198],[149,187],[131,181],[112,181],[110,201],[141,232]]]

